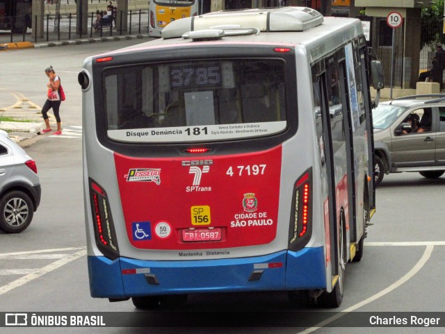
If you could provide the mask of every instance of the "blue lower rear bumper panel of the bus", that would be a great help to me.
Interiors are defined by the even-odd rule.
[[[89,256],[90,292],[92,297],[124,298],[324,288],[323,258],[322,247],[220,260],[109,260]]]

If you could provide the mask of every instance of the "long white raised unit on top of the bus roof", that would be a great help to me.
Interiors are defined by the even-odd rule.
[[[197,17],[186,17],[171,22],[163,28],[163,38],[181,37],[189,31],[206,29],[232,30],[237,28],[257,28],[258,31],[305,31],[323,23],[323,15],[306,7],[280,7],[246,10],[223,10],[209,12]],[[229,35],[229,33],[225,33]]]

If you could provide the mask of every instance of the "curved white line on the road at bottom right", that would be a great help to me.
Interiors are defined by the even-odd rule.
[[[389,287],[383,289],[382,291],[378,292],[377,294],[374,294],[373,296],[369,297],[368,299],[365,299],[364,301],[360,301],[359,303],[356,303],[355,305],[350,306],[349,308],[346,308],[346,310],[342,310],[341,312],[338,312],[336,315],[334,315],[326,320],[323,320],[323,322],[319,322],[314,327],[307,328],[305,331],[298,332],[298,333],[308,334],[308,333],[317,331],[318,329],[326,326],[327,324],[330,324],[331,322],[334,322],[335,320],[340,319],[341,317],[345,316],[346,313],[353,312],[354,310],[357,310],[357,308],[361,308],[362,306],[365,306],[366,304],[369,304],[372,301],[375,301],[376,299],[379,299],[380,297],[385,296],[385,294],[388,294],[389,292],[396,290],[399,286],[401,286],[403,283],[410,280],[410,278],[412,278],[412,276],[414,276],[415,274],[417,274],[417,272],[419,272],[419,270],[423,267],[423,265],[426,264],[426,262],[430,258],[432,249],[434,249],[434,246],[428,244],[428,246],[426,246],[425,251],[423,252],[423,256],[416,263],[416,265],[414,265],[414,267],[412,267],[412,269],[409,272],[407,272],[407,274],[405,274],[405,276],[403,276],[401,279],[394,282],[393,284],[389,285]]]

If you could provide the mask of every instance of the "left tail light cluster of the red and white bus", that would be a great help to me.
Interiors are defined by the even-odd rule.
[[[90,201],[92,224],[95,230],[95,240],[99,251],[107,258],[119,256],[118,241],[114,231],[113,218],[109,210],[106,192],[95,181],[90,179]]]

